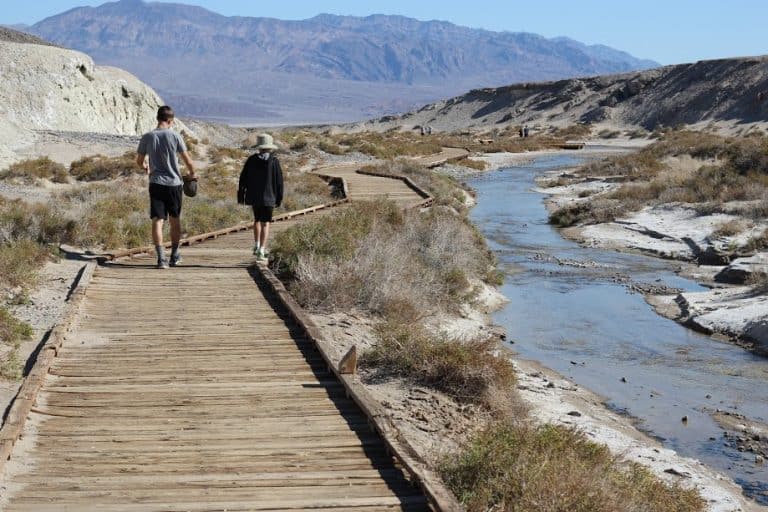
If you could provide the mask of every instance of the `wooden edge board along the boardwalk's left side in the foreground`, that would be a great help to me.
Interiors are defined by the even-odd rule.
[[[49,331],[48,339],[40,348],[31,371],[24,377],[19,392],[11,402],[3,426],[0,428],[0,474],[3,472],[5,463],[11,458],[16,441],[21,438],[27,416],[34,407],[35,399],[48,375],[48,370],[72,329],[95,269],[96,264],[93,262],[83,265],[75,279],[75,286],[67,298],[67,306],[61,319]]]

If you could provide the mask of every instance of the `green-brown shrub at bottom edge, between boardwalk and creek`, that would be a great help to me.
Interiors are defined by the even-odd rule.
[[[445,456],[440,473],[469,511],[698,512],[706,505],[695,490],[549,424],[493,424]]]

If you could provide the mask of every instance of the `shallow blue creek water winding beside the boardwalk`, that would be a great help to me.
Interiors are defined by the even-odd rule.
[[[548,156],[469,180],[478,200],[472,219],[497,254],[510,300],[493,320],[521,357],[600,394],[665,446],[729,475],[768,505],[768,467],[726,446],[710,415],[721,409],[768,422],[768,360],[657,315],[626,286],[629,277],[703,289],[676,275],[673,262],[584,248],[548,224],[534,180],[579,162]]]

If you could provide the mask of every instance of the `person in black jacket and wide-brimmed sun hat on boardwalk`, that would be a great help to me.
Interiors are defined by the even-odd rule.
[[[253,207],[253,255],[267,259],[267,240],[272,212],[283,202],[283,170],[273,151],[277,149],[272,136],[262,133],[256,137],[257,153],[248,158],[240,173],[237,202]]]

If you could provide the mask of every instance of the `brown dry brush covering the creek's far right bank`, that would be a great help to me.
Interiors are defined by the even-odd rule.
[[[670,158],[690,157],[698,169],[683,170]],[[754,218],[768,211],[768,138],[728,138],[701,132],[667,132],[631,154],[582,167],[586,176],[625,176],[628,183],[595,195],[589,204],[569,205],[550,219],[559,226],[606,222],[645,206],[692,205],[702,214],[732,201],[750,202]]]

